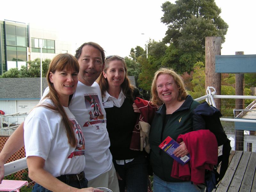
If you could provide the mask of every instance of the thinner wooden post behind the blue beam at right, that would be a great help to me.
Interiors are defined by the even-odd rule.
[[[243,55],[243,51],[236,52],[236,55]],[[236,74],[236,95],[244,95],[244,74]],[[236,99],[236,109],[244,109],[244,99]],[[236,116],[241,111],[236,111]],[[244,150],[244,130],[236,130],[236,150]]]

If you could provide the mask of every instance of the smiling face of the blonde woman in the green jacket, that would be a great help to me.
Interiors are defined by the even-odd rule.
[[[156,79],[156,90],[159,99],[164,104],[172,104],[178,101],[179,88],[172,76],[168,74],[159,75]]]

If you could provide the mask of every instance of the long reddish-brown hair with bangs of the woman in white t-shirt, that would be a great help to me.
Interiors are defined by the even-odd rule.
[[[52,86],[52,83],[50,81],[50,72],[52,72],[54,74],[56,71],[62,71],[62,70],[68,70],[68,71],[74,70],[77,73],[79,72],[78,61],[76,60],[76,58],[73,55],[70,55],[68,53],[63,53],[63,54],[59,54],[59,55],[55,56],[52,59],[50,65],[49,65],[47,75],[46,75],[48,86],[49,86],[49,93],[44,98],[47,98],[47,97],[50,98],[52,100],[54,106],[47,105],[47,104],[42,104],[39,106],[43,106],[43,107],[49,108],[53,111],[60,113],[60,116],[62,117],[62,121],[65,126],[66,132],[67,132],[68,143],[72,147],[76,147],[77,140],[76,140],[75,133],[73,130],[73,125],[69,121],[69,118],[68,118],[64,108],[60,104],[59,95],[58,95],[57,91],[55,90],[55,88]],[[70,103],[73,95],[74,95],[74,93],[69,96],[68,104]]]

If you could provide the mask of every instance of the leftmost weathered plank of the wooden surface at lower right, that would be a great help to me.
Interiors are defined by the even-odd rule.
[[[240,162],[240,159],[243,155],[243,151],[236,151],[229,166],[228,169],[226,171],[226,174],[224,175],[224,177],[222,178],[222,180],[220,181],[220,184],[218,186],[218,188],[216,189],[216,192],[226,192],[229,188],[230,182],[233,179],[233,176],[236,172],[236,168]]]

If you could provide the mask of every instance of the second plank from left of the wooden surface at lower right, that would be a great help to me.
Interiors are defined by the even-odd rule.
[[[241,183],[244,179],[245,170],[247,168],[247,164],[250,158],[251,152],[244,151],[244,155],[242,156],[240,163],[236,169],[236,173],[234,178],[228,188],[228,192],[236,192],[239,191]]]

